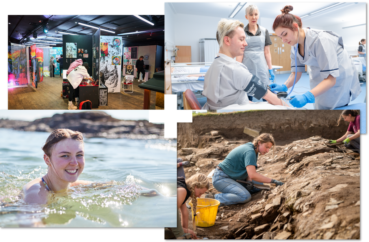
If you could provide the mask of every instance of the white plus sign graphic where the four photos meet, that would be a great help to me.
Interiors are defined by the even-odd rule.
[[[192,110],[177,110],[177,95],[164,95],[164,110],[149,110],[150,123],[164,123],[164,138],[177,138],[177,123],[192,123]]]

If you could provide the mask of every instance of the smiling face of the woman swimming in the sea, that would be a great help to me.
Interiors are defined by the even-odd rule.
[[[56,143],[52,149],[51,161],[44,155],[49,167],[49,176],[58,180],[75,182],[85,167],[85,152],[81,141],[63,139]]]

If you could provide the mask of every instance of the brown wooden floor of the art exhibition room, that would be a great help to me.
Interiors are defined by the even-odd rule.
[[[123,80],[123,77],[122,77]],[[44,77],[44,81],[34,87],[8,88],[8,109],[68,109],[68,98],[61,97],[62,78]],[[143,109],[144,89],[139,88],[137,79],[133,81],[132,93],[108,93],[108,105],[93,109]],[[155,106],[156,92],[151,91],[150,109],[163,109]],[[73,102],[75,104],[75,102]]]

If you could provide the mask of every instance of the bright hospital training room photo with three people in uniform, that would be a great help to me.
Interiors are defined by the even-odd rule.
[[[164,3],[177,109],[366,110],[366,3]]]

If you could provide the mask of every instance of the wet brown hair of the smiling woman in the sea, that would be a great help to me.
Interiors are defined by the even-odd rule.
[[[44,146],[42,146],[42,150],[51,161],[51,153],[54,150],[55,144],[61,140],[66,138],[71,138],[73,140],[81,141],[83,143],[83,136],[82,133],[79,131],[73,131],[70,129],[56,129],[54,130],[49,137],[46,139]],[[48,166],[49,169],[49,166]]]

